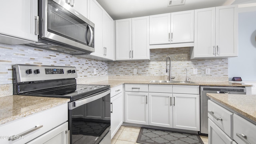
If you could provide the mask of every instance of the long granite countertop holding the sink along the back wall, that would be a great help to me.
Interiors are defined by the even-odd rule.
[[[110,87],[118,86],[120,84],[171,84],[171,85],[194,85],[194,86],[252,86],[232,82],[201,82],[194,81],[194,83],[159,83],[150,82],[151,80],[103,80],[98,82],[90,82],[87,84],[110,85]]]

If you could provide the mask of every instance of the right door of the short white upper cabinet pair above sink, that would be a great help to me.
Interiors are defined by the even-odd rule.
[[[194,42],[194,10],[171,13],[171,43]]]

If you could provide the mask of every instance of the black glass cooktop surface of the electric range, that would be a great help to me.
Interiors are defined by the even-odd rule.
[[[40,90],[37,92],[25,92],[22,95],[28,96],[47,96],[55,98],[70,98],[71,101],[96,94],[98,92],[109,89],[108,85],[84,85],[76,84],[72,86],[64,86],[58,88],[50,88],[47,90]]]

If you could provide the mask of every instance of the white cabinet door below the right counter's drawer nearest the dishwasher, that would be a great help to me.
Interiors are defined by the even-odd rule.
[[[225,134],[210,118],[208,118],[208,143],[232,144],[233,140]]]

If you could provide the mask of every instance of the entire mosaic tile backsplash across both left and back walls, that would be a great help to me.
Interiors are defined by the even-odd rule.
[[[228,59],[190,60],[190,48],[164,48],[150,51],[150,61],[104,62],[29,46],[0,44],[0,84],[12,84],[13,64],[75,66],[78,78],[168,76],[166,56],[171,57],[172,76],[186,76],[184,69],[187,68],[188,77],[228,77]],[[94,68],[97,70],[96,75]],[[193,74],[193,68],[198,69],[198,74]],[[210,68],[210,74],[205,74],[205,68]],[[133,69],[137,69],[137,74],[133,74]]]

